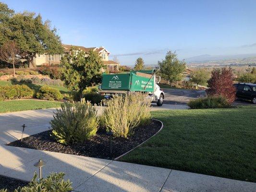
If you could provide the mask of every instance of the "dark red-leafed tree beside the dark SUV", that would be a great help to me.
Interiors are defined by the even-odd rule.
[[[233,85],[233,73],[229,67],[213,69],[208,80],[207,95],[224,96],[232,103],[235,100],[236,88]]]

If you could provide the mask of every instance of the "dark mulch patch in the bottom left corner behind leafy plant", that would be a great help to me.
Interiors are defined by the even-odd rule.
[[[7,189],[8,192],[13,192],[15,189],[17,189],[19,186],[24,187],[29,182],[24,180],[17,180],[11,177],[6,177],[0,175],[0,189]]]

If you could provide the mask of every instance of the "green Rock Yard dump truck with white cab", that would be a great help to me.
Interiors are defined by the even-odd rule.
[[[164,93],[157,84],[157,77],[151,70],[103,74],[99,89],[99,93],[106,98],[113,94],[143,92],[148,93],[151,101],[157,103],[158,106],[162,106],[164,99]]]

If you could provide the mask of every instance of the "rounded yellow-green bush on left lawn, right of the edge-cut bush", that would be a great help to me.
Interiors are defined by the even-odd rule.
[[[37,92],[37,98],[43,100],[60,100],[63,98],[58,89],[51,88],[47,85],[42,86]]]

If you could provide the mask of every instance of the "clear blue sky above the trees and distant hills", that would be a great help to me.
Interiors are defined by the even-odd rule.
[[[105,47],[110,59],[156,64],[256,53],[256,0],[1,0],[15,12],[40,13],[63,44]]]

